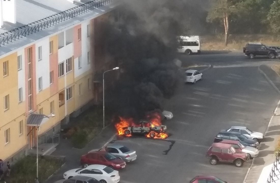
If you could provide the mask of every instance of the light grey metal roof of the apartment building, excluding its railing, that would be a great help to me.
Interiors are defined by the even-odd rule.
[[[94,0],[93,2],[98,2],[100,0]],[[89,2],[89,0],[82,0],[83,3],[71,3],[67,0],[17,0],[17,23],[8,23],[4,22],[2,28],[0,28],[0,34],[14,28],[18,28],[22,25],[27,25],[34,21],[40,20],[47,16],[54,15],[61,11],[65,11],[69,8],[73,8],[79,6],[81,4]],[[88,11],[82,15],[76,16],[67,20],[65,22],[61,22],[53,27],[49,27],[47,29],[40,30],[39,32],[27,35],[26,37],[20,38],[19,40],[15,40],[12,43],[1,45],[0,47],[0,56],[6,53],[9,53],[19,47],[25,46],[31,42],[39,40],[43,37],[51,35],[55,32],[63,30],[64,28],[70,27],[79,23],[83,20],[87,20],[89,18],[95,18],[100,16],[108,11],[111,11],[118,5],[119,2],[113,1],[112,3],[106,4],[104,6],[98,7],[92,11]]]

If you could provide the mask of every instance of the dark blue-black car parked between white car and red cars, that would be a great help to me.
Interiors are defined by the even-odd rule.
[[[240,141],[241,144],[244,146],[251,146],[254,148],[259,147],[259,142],[256,141],[255,139],[249,139],[248,137],[237,133],[237,132],[226,132],[226,131],[221,131],[219,132],[215,139],[214,142],[221,142],[222,140],[234,140],[234,141]]]

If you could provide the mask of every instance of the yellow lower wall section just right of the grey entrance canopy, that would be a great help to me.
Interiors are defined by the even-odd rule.
[[[59,103],[58,94],[48,98],[37,106],[37,109],[43,108],[43,114],[50,115],[50,102],[54,101],[54,112],[55,117],[49,118],[45,123],[43,123],[39,128],[39,135],[45,133],[49,129],[53,128],[59,120]]]

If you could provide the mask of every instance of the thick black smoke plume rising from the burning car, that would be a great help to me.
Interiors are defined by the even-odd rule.
[[[106,25],[106,48],[121,68],[106,106],[117,115],[143,118],[163,110],[180,83],[177,36],[187,30],[187,0],[124,0],[118,21]]]

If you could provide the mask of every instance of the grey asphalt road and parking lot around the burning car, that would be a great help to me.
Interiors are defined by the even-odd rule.
[[[241,183],[251,165],[212,166],[206,151],[221,130],[232,125],[265,132],[279,95],[257,70],[269,59],[248,60],[242,53],[184,56],[182,62],[207,62],[213,68],[203,80],[181,84],[165,110],[174,118],[165,121],[170,136],[165,140],[125,137],[116,140],[137,151],[136,161],[120,170],[121,183],[188,182],[196,175],[214,175],[229,183]]]

